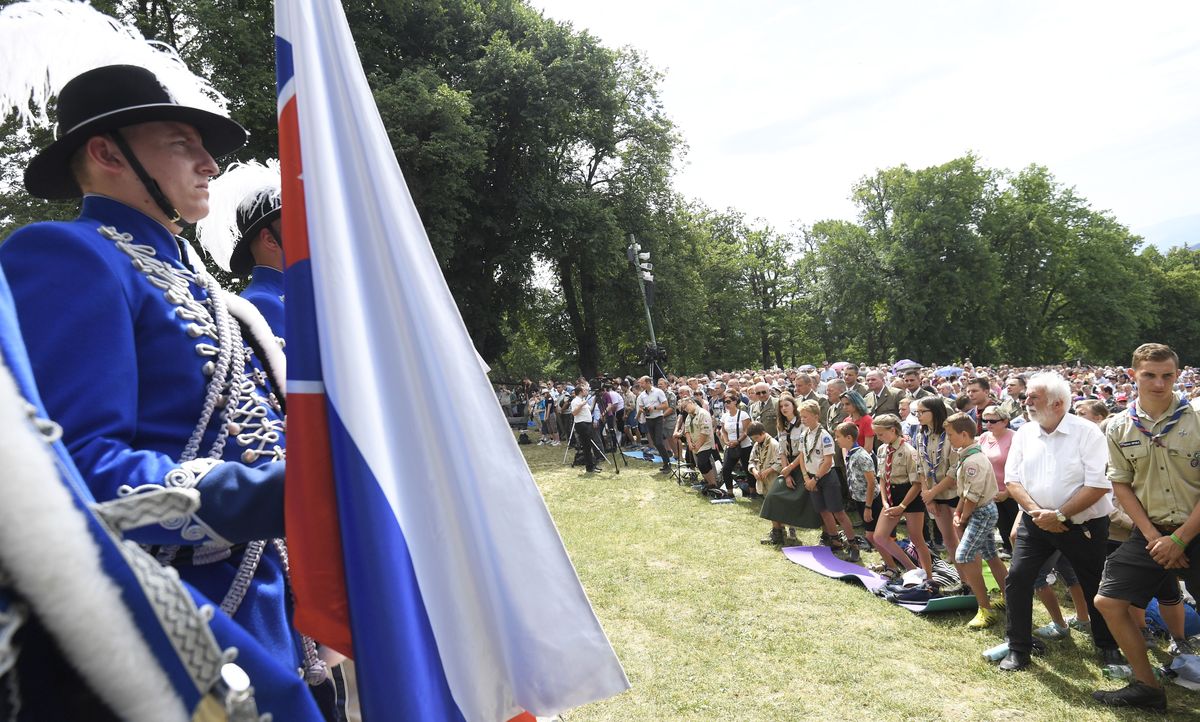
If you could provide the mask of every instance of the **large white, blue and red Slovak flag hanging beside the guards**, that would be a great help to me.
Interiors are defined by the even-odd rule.
[[[368,721],[550,716],[626,690],[340,2],[275,12],[296,627],[354,658]]]

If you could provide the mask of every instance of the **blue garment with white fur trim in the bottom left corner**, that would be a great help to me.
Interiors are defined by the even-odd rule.
[[[199,493],[96,504],[60,434],[0,272],[0,720],[320,720],[293,667],[121,542]]]

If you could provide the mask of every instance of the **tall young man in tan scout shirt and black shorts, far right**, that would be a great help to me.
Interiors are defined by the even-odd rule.
[[[1129,660],[1134,680],[1093,697],[1112,706],[1165,711],[1166,692],[1154,679],[1129,606],[1145,608],[1170,576],[1187,582],[1193,595],[1200,592],[1200,415],[1172,392],[1178,356],[1169,347],[1138,347],[1132,374],[1138,401],[1112,419],[1106,435],[1109,481],[1134,529],[1105,562],[1096,608]]]

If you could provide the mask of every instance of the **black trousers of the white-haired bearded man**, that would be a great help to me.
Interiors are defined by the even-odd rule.
[[[1085,530],[1091,535],[1088,539]],[[1042,565],[1055,552],[1062,552],[1075,567],[1075,576],[1087,597],[1087,613],[1092,618],[1092,642],[1097,649],[1116,649],[1112,632],[1104,624],[1104,615],[1096,610],[1096,591],[1104,573],[1108,550],[1109,518],[1100,517],[1084,524],[1070,524],[1062,534],[1040,529],[1028,516],[1021,518],[1016,531],[1013,561],[1008,567],[1004,597],[1008,602],[1008,648],[1028,654],[1033,648],[1033,583]]]

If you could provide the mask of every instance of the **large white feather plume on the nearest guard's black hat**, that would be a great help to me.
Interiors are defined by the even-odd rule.
[[[86,2],[26,0],[0,10],[0,120],[49,125],[46,108],[76,76],[106,65],[152,72],[176,102],[229,115],[228,100],[197,77],[174,48]]]

